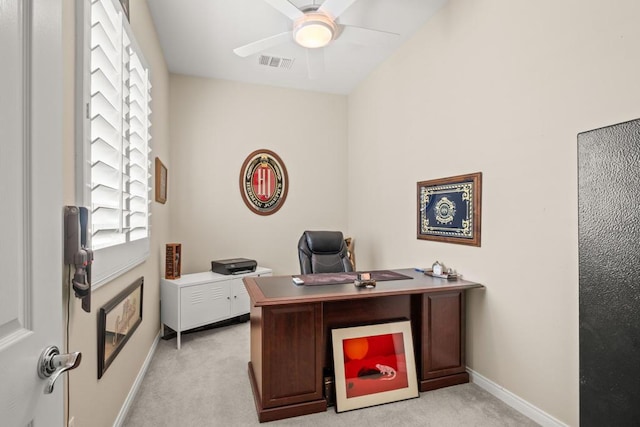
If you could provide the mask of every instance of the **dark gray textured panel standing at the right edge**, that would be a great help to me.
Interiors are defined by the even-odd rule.
[[[580,425],[640,425],[640,120],[578,135]]]

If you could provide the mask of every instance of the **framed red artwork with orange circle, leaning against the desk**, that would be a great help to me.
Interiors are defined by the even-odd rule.
[[[411,322],[333,329],[336,412],[418,397]]]

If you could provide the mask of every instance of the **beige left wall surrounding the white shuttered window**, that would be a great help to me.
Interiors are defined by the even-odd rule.
[[[73,173],[74,5],[73,0],[65,0],[63,5],[65,204],[76,204]],[[130,8],[131,26],[151,69],[152,156],[160,156],[165,160],[169,153],[169,75],[147,3],[131,1]],[[158,335],[160,328],[158,282],[162,251],[164,243],[167,242],[169,230],[169,206],[170,202],[167,205],[155,202],[151,204],[151,256],[147,262],[97,289],[92,295],[91,313],[82,311],[79,299],[72,298],[70,301],[68,349],[82,352],[81,365],[69,373],[69,416],[74,417],[76,426],[113,425]],[[105,375],[98,380],[97,315],[99,309],[140,276],[144,276],[145,279],[143,322],[114,359]],[[68,291],[66,283],[64,289],[65,292]]]

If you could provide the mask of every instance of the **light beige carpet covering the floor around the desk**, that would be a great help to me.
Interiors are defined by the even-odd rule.
[[[124,422],[125,427],[258,426],[247,375],[249,323],[160,340]],[[278,426],[537,426],[474,384],[420,394],[420,398],[262,424]]]

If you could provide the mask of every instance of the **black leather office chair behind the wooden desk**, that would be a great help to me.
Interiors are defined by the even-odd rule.
[[[340,231],[305,231],[298,241],[298,257],[301,274],[353,271]]]

